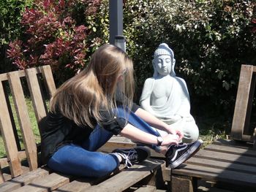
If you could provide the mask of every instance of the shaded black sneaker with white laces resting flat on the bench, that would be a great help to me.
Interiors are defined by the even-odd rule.
[[[135,147],[132,149],[116,149],[112,153],[117,153],[121,156],[121,163],[131,167],[135,163],[140,163],[150,157],[150,150],[146,147]]]

